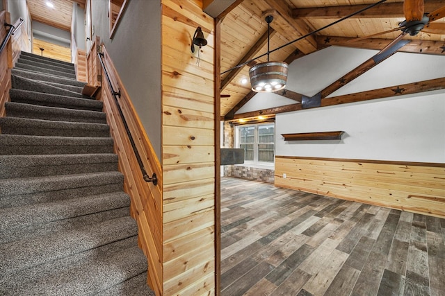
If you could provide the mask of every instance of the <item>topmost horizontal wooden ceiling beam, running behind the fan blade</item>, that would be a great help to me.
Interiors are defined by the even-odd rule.
[[[425,1],[425,11],[431,12],[445,5],[445,0],[430,0]],[[318,19],[336,19],[346,17],[353,12],[366,8],[368,5],[351,5],[351,6],[327,6],[316,8],[296,8],[292,10],[292,16],[295,19],[302,19],[305,17]],[[380,18],[380,17],[404,17],[403,2],[381,3],[378,6],[365,10],[353,18]]]

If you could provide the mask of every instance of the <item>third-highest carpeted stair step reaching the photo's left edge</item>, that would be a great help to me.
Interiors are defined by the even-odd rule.
[[[0,179],[118,171],[118,155],[0,155]]]

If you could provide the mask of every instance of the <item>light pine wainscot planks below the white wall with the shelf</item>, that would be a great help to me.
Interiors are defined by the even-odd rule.
[[[275,186],[445,217],[445,164],[277,156]]]

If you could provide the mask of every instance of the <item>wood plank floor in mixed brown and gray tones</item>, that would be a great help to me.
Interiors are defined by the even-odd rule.
[[[445,219],[221,179],[221,295],[445,295]]]

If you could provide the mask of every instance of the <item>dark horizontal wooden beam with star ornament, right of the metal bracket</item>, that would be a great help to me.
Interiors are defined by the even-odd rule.
[[[382,89],[373,89],[367,92],[334,96],[332,98],[322,98],[321,107],[355,103],[373,100],[376,98],[389,98],[391,96],[403,96],[405,94],[417,94],[420,92],[430,92],[437,89],[445,89],[445,78],[424,80],[420,82],[407,83],[405,85],[395,85]]]

